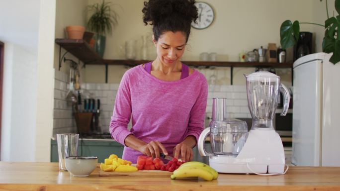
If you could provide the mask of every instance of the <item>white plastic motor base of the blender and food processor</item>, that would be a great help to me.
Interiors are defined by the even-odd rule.
[[[237,157],[210,156],[209,166],[219,173],[283,173],[285,155],[281,138],[274,130],[251,130]]]

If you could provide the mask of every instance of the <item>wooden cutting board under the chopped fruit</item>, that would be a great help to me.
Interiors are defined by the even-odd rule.
[[[141,170],[135,172],[105,172],[99,171],[99,177],[166,177],[169,178],[172,175],[169,171],[160,170]]]

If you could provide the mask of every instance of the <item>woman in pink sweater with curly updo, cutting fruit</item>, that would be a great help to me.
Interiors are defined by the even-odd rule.
[[[203,130],[207,81],[180,62],[197,19],[194,0],[144,2],[143,21],[153,25],[157,58],[123,76],[110,122],[112,138],[123,144],[123,159],[160,153],[190,161]],[[131,131],[127,124],[132,120]]]

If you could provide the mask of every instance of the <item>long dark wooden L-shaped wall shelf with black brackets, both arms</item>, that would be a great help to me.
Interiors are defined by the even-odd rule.
[[[60,45],[59,48],[59,68],[65,54],[70,52],[84,64],[105,65],[105,83],[107,83],[108,65],[125,65],[129,67],[137,66],[150,62],[149,60],[105,60],[102,59],[83,39],[62,39],[57,38],[55,42]],[[67,52],[61,56],[61,48]],[[272,67],[272,68],[292,68],[293,63],[269,63],[269,62],[221,62],[221,61],[182,61],[184,64],[193,67],[230,67],[231,85],[233,85],[233,68],[234,67]],[[293,75],[292,75],[293,76]]]

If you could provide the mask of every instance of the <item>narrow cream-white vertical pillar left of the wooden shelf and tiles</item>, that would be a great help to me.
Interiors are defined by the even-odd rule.
[[[54,31],[56,0],[40,1],[35,161],[50,162],[54,97]]]

